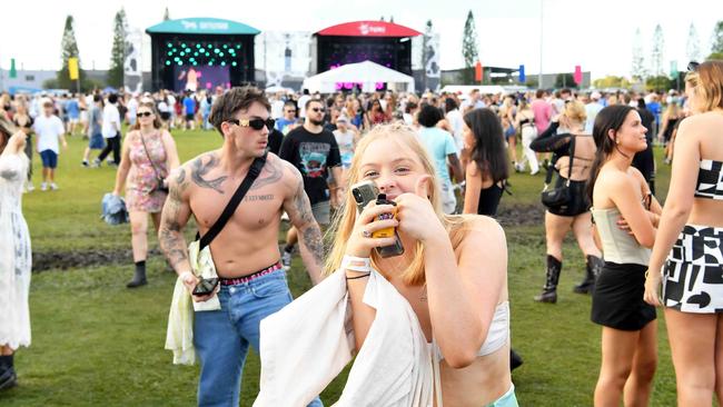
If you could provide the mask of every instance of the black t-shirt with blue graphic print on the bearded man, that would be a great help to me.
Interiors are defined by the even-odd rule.
[[[341,163],[339,146],[330,131],[313,133],[298,127],[284,138],[279,157],[301,172],[311,205],[329,200],[329,168]]]

